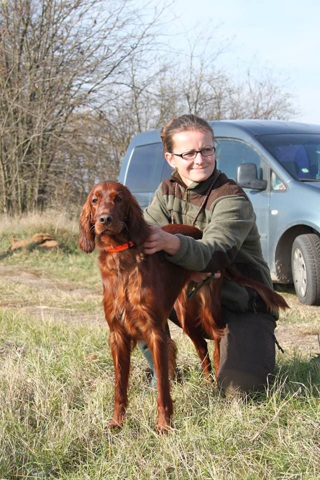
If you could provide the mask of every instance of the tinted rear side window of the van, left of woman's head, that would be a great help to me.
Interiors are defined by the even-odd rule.
[[[126,186],[133,192],[154,191],[159,184],[162,143],[136,146],[130,158]]]

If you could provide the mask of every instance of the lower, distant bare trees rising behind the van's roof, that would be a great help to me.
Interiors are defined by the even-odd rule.
[[[262,68],[255,76],[250,70],[235,76],[216,67],[226,42],[216,43],[213,35],[204,39],[198,35],[193,42],[186,38],[186,42],[187,54],[174,52],[166,64],[157,66],[156,73],[152,74],[153,65],[141,78],[136,69],[128,76],[127,90],[121,90],[109,115],[115,136],[118,128],[122,137],[123,130],[128,132],[124,144],[118,142],[122,149],[135,133],[159,127],[183,113],[211,120],[294,117],[296,109],[286,82],[270,69]]]

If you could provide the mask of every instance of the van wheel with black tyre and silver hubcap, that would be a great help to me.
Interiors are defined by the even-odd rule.
[[[294,288],[301,303],[320,304],[320,237],[298,235],[293,241],[291,269]]]

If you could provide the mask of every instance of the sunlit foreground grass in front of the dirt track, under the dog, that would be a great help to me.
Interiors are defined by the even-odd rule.
[[[318,478],[319,367],[278,358],[256,400],[223,399],[202,383],[188,341],[178,343],[174,429],[155,433],[155,391],[132,354],[129,408],[112,412],[107,328],[0,315],[0,478]]]

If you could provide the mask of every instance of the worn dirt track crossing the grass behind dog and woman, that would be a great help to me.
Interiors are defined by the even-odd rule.
[[[34,304],[30,298],[27,301],[25,297],[6,298],[5,288],[10,285],[10,289],[15,289],[17,285],[25,285],[31,288],[31,291],[43,291],[45,295],[53,295],[59,298],[65,292],[71,297],[86,297],[96,302],[94,311],[84,312],[81,309],[71,307],[47,306]],[[297,348],[303,352],[317,354],[320,352],[318,335],[320,335],[320,306],[302,305],[297,297],[292,293],[283,293],[286,301],[290,305],[290,312],[287,316],[280,316],[275,330],[276,338],[280,345],[285,348]],[[0,307],[9,307],[16,310],[23,310],[26,313],[39,316],[43,319],[62,319],[66,321],[77,321],[82,323],[105,324],[103,311],[100,304],[101,292],[92,291],[87,288],[74,287],[67,281],[52,281],[43,278],[36,271],[26,271],[20,269],[19,265],[10,267],[0,264]],[[293,321],[292,321],[293,319]],[[181,329],[173,323],[170,323],[170,329],[173,338],[181,335]]]

